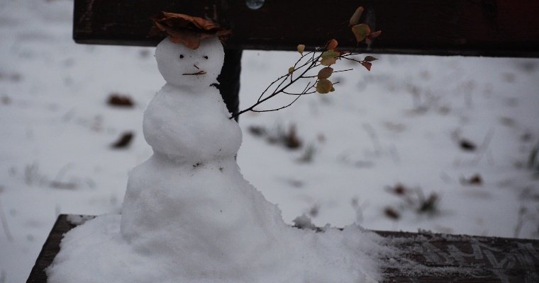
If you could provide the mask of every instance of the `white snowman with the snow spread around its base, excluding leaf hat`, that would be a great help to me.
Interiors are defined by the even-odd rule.
[[[49,282],[375,282],[379,238],[288,226],[243,178],[240,127],[213,86],[223,47],[199,39],[157,45],[166,83],[143,120],[153,155],[130,172],[121,215],[65,235]]]

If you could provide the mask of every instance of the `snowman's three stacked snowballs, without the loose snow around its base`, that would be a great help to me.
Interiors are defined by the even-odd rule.
[[[182,262],[187,270],[197,270],[197,262],[228,262],[214,272],[255,262],[283,223],[235,163],[240,127],[210,86],[221,71],[223,47],[216,37],[197,50],[164,40],[155,57],[167,84],[144,115],[154,155],[130,173],[121,232],[136,250],[171,258],[199,246],[200,253]],[[266,207],[254,207],[260,203]]]

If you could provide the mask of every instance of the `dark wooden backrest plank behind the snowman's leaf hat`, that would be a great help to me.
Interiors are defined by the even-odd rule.
[[[294,50],[336,38],[355,46],[348,19],[357,6],[376,30],[371,53],[539,57],[539,1],[535,0],[75,0],[76,42],[155,46],[150,17],[159,11],[211,18],[231,28],[235,49]],[[363,48],[360,51],[366,51]]]

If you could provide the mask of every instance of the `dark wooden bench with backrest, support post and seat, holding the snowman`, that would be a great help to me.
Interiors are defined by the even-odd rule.
[[[226,42],[221,93],[238,111],[241,50],[295,50],[336,38],[355,46],[347,28],[357,6],[383,36],[360,52],[389,54],[539,57],[539,1],[527,0],[266,0],[258,9],[225,0],[75,0],[73,37],[78,43],[155,46],[150,18],[159,11],[204,16],[233,30]],[[58,217],[27,282],[47,282],[45,268],[76,224]],[[423,265],[408,274],[387,267],[386,282],[539,282],[539,241],[376,231]],[[436,270],[453,270],[443,272]]]

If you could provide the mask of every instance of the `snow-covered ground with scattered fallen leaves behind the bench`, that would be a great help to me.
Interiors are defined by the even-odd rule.
[[[69,0],[0,1],[0,282],[26,280],[57,214],[117,212],[128,171],[151,154],[154,49],[76,45],[71,21]],[[245,52],[242,108],[298,56]],[[539,60],[377,57],[371,72],[338,74],[334,93],[242,115],[245,178],[288,223],[539,238],[527,168]],[[135,107],[107,105],[111,93]],[[133,143],[112,149],[127,131]],[[299,149],[280,141],[290,132]]]

